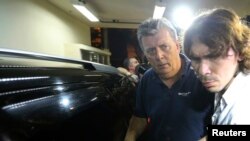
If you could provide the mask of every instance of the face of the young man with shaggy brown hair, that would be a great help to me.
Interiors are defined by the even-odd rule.
[[[227,87],[236,73],[239,56],[232,48],[225,57],[213,57],[207,45],[193,40],[191,54],[194,70],[203,85],[211,92],[219,92]]]

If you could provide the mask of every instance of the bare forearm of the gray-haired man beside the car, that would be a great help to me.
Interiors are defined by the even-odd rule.
[[[132,116],[129,122],[129,127],[124,141],[136,141],[147,126],[147,120],[145,118],[139,118]]]

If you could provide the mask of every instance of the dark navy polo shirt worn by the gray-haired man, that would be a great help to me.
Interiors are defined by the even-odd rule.
[[[153,69],[142,77],[137,93],[135,116],[147,118],[150,141],[197,141],[210,122],[214,95],[207,92],[182,59],[182,74],[168,88]]]

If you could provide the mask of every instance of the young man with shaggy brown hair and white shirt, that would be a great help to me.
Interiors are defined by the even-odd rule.
[[[212,124],[250,124],[250,29],[229,9],[199,15],[184,38],[185,54],[215,93]]]

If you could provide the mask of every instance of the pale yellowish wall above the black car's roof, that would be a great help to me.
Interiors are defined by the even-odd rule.
[[[47,0],[1,0],[0,19],[0,48],[63,56],[65,43],[91,45],[90,28]]]

